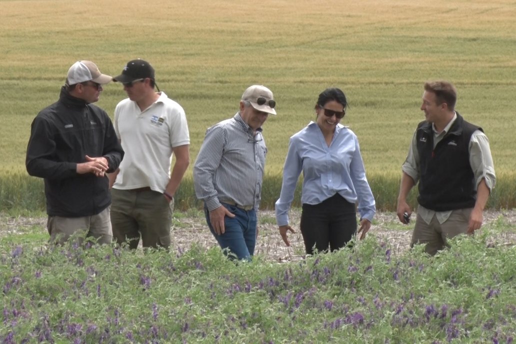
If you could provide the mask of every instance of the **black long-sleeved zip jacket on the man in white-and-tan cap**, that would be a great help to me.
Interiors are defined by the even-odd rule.
[[[76,172],[86,155],[104,156],[112,172],[124,152],[107,113],[63,87],[59,100],[34,119],[25,160],[30,175],[44,178],[48,215],[92,216],[111,204],[107,176]]]

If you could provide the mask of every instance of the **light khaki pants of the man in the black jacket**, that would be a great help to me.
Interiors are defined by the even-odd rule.
[[[111,243],[113,238],[109,207],[93,216],[79,218],[49,216],[46,228],[49,230],[50,241],[58,244],[65,243],[74,234],[79,234],[77,237],[79,244],[84,239],[82,234],[97,239],[99,243]]]

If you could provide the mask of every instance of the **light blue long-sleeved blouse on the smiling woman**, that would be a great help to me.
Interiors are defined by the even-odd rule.
[[[276,201],[278,226],[288,224],[288,211],[301,171],[301,203],[318,204],[338,192],[350,203],[358,201],[361,219],[373,220],[375,199],[365,176],[358,138],[349,128],[337,124],[329,147],[313,121],[290,138],[281,194]]]

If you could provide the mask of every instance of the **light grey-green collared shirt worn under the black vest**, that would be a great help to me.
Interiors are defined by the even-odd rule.
[[[436,148],[437,143],[443,139],[446,133],[448,133],[451,125],[455,122],[456,119],[457,113],[454,114],[453,119],[451,119],[451,121],[446,125],[441,133],[437,132],[436,127],[432,123],[434,148]],[[415,184],[417,184],[420,178],[420,157],[416,146],[416,132],[417,129],[414,132],[414,136],[412,137],[412,143],[409,148],[407,159],[405,159],[404,164],[401,166],[401,170],[411,176],[412,179],[414,179]],[[486,134],[482,133],[480,130],[475,130],[470,139],[469,152],[471,169],[475,175],[475,186],[478,186],[478,183],[480,183],[482,179],[486,179],[486,185],[491,191],[496,183],[496,176],[494,174],[494,163],[491,156],[491,149],[489,147],[489,139],[487,138]],[[439,223],[443,223],[451,215],[451,210],[434,211],[420,205],[417,208],[417,213],[421,215],[427,224],[430,224],[430,221],[432,221],[434,215],[436,216]]]

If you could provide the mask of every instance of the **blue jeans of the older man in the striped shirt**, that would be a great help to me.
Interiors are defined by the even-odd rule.
[[[220,247],[224,249],[225,254],[235,255],[237,259],[250,260],[254,254],[254,246],[256,245],[256,211],[244,210],[222,203],[226,209],[235,215],[234,218],[224,218],[224,234],[215,233],[211,222],[209,222],[209,211],[204,206],[204,215],[208,223],[209,230],[212,232]],[[228,249],[228,250],[225,250]]]

